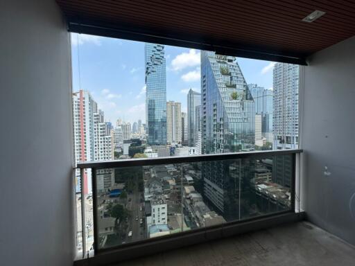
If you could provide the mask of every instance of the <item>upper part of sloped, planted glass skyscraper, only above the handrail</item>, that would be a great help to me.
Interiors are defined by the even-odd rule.
[[[252,150],[255,105],[236,57],[201,57],[202,153]]]

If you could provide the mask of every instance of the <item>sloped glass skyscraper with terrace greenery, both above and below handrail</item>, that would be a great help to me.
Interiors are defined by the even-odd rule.
[[[254,100],[236,57],[201,51],[201,87],[202,154],[253,150]],[[204,195],[226,220],[248,216],[252,175],[246,170],[238,174],[236,163],[202,163]]]

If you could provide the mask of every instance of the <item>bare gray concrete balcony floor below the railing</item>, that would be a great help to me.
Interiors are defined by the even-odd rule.
[[[354,266],[355,247],[309,222],[297,222],[128,260],[119,265]]]

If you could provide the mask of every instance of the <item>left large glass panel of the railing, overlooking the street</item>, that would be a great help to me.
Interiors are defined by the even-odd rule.
[[[181,165],[97,170],[100,249],[187,229],[181,208]]]

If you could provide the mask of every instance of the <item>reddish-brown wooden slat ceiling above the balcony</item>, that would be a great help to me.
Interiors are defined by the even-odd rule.
[[[290,57],[304,58],[355,35],[352,0],[57,2],[69,24],[114,28],[212,47],[224,44]],[[302,21],[314,10],[326,14],[311,23]],[[99,30],[97,33],[100,34]]]

